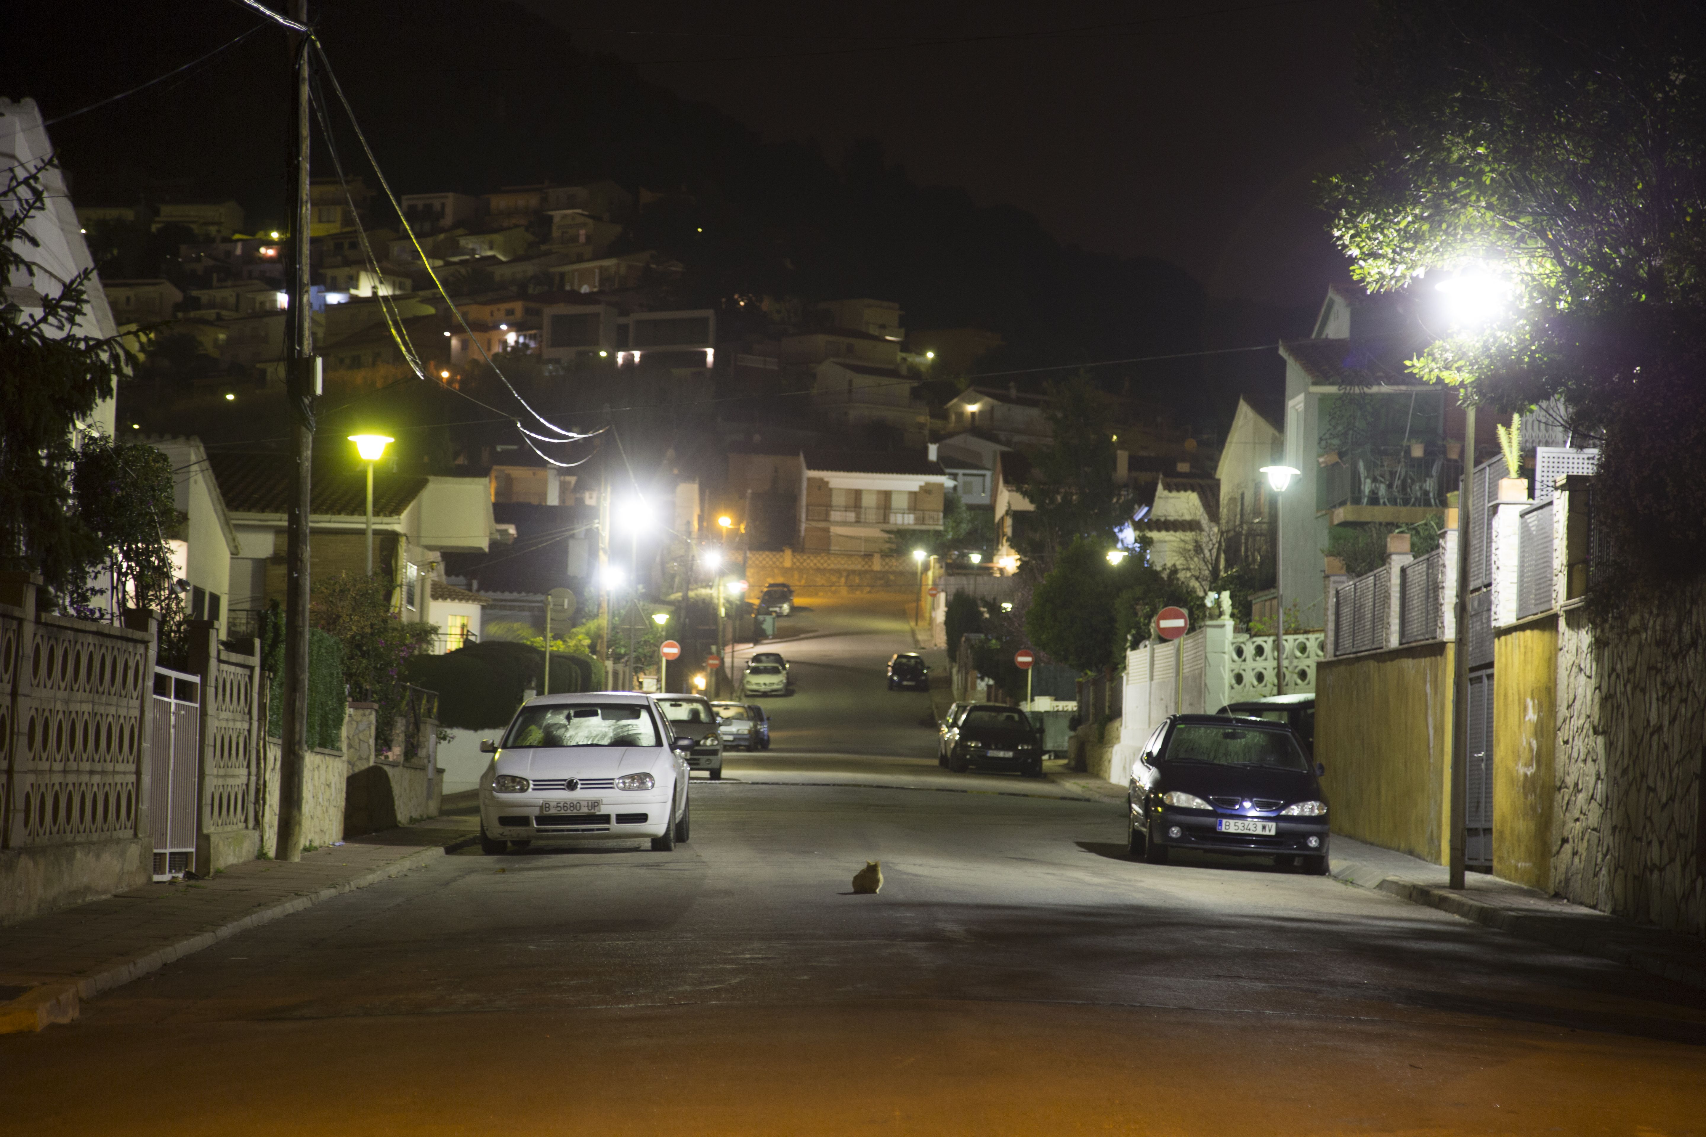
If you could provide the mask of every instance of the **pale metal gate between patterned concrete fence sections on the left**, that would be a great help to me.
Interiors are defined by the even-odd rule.
[[[148,747],[148,822],[154,828],[154,880],[171,880],[196,864],[196,806],[201,781],[201,680],[164,667],[154,670]]]

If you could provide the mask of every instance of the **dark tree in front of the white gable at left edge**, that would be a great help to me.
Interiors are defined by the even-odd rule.
[[[0,186],[0,569],[41,573],[58,593],[80,588],[104,557],[70,506],[80,426],[113,395],[123,344],[78,331],[90,271],[63,285],[29,259],[29,220],[44,210],[46,162],[14,167]],[[36,307],[39,303],[39,309]]]

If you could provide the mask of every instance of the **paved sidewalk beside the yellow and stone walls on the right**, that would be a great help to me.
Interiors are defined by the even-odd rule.
[[[1643,927],[1486,873],[1469,873],[1465,888],[1454,892],[1447,888],[1450,874],[1443,864],[1334,834],[1332,874],[1522,939],[1706,987],[1706,944],[1699,939]]]

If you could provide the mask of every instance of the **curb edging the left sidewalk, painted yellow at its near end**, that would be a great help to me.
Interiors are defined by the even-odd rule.
[[[82,1007],[78,1004],[82,999],[92,999],[104,990],[121,987],[133,978],[147,975],[148,972],[157,972],[174,960],[194,955],[203,948],[212,948],[218,941],[235,936],[244,929],[271,924],[273,921],[290,915],[292,912],[300,912],[302,909],[331,900],[333,897],[341,897],[346,892],[367,888],[368,885],[377,885],[401,873],[408,873],[409,869],[423,868],[430,864],[433,857],[442,857],[447,852],[466,849],[478,840],[479,835],[476,834],[461,837],[449,846],[418,849],[406,857],[397,857],[396,861],[360,876],[339,881],[338,885],[328,885],[326,888],[312,893],[292,897],[290,900],[280,900],[271,907],[251,912],[242,919],[230,921],[229,924],[210,927],[208,931],[189,936],[188,939],[179,939],[177,943],[165,944],[164,948],[113,960],[82,978],[56,980],[53,984],[36,987],[10,1002],[0,1004],[0,1035],[39,1031],[53,1023],[70,1023],[80,1014]]]

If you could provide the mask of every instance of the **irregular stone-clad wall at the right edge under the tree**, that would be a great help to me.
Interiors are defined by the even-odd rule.
[[[1552,890],[1706,934],[1706,580],[1558,629]]]

